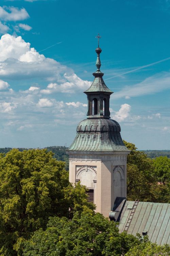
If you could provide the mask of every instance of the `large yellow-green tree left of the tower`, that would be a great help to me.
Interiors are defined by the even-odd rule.
[[[13,149],[0,155],[1,255],[16,255],[17,240],[45,229],[50,216],[69,217],[77,208],[94,209],[86,200],[85,187],[73,188],[64,167],[46,150]]]

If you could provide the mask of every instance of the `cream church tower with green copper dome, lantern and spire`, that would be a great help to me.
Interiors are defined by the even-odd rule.
[[[126,197],[126,162],[130,153],[120,135],[120,125],[110,119],[109,101],[113,92],[105,85],[100,71],[99,34],[96,48],[97,71],[87,95],[87,118],[77,126],[77,135],[68,148],[69,181],[81,182],[88,200],[105,217],[114,208],[117,197]]]

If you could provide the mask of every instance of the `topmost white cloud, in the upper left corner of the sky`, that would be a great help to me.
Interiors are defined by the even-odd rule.
[[[25,8],[16,8],[13,6],[0,6],[0,19],[5,21],[17,21],[29,18],[29,14]]]

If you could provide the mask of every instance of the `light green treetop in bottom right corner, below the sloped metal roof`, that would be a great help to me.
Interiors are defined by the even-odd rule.
[[[132,247],[125,256],[169,256],[170,246],[165,244],[159,246],[149,241],[140,243],[137,246]]]

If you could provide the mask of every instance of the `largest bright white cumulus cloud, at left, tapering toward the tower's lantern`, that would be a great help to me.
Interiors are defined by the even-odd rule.
[[[76,93],[86,90],[91,82],[82,80],[72,69],[39,54],[20,36],[5,34],[0,40],[0,76],[4,79],[41,79],[51,81],[43,94]]]

